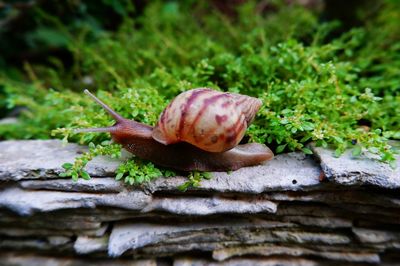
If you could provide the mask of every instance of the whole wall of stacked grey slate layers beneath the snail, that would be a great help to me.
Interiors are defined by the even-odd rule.
[[[91,180],[59,177],[84,151],[55,140],[0,142],[2,265],[400,261],[399,170],[367,153],[336,158],[313,147],[313,156],[214,172],[181,192],[182,176],[140,187],[115,181],[120,161],[106,157],[88,166]]]

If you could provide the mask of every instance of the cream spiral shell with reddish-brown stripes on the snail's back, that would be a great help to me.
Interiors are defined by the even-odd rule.
[[[152,137],[168,145],[188,142],[209,152],[239,144],[262,102],[207,88],[179,94],[162,112]]]

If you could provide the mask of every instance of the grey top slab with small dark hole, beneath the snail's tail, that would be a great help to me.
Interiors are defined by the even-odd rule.
[[[203,180],[201,191],[258,194],[265,191],[312,190],[321,186],[320,167],[303,153],[277,155],[262,165],[245,167],[231,173],[213,172]],[[176,191],[187,181],[183,177],[159,178],[147,185],[151,192]]]

